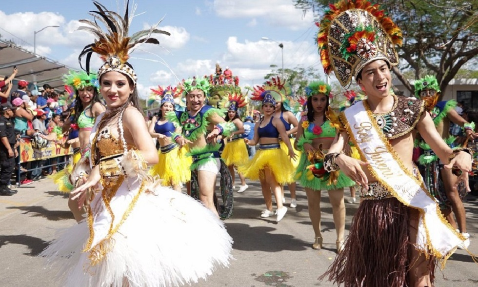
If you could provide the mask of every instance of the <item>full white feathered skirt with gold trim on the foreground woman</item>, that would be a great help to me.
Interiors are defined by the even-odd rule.
[[[228,266],[232,238],[215,214],[170,188],[140,189],[124,180],[110,201],[113,220],[96,194],[90,224],[62,230],[40,254],[59,286],[182,286]]]

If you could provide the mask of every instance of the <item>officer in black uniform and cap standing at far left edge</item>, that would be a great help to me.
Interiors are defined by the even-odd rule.
[[[15,148],[15,107],[10,103],[0,105],[0,195],[13,195],[16,190],[11,190],[8,186],[15,170],[15,158],[18,157],[18,151]]]

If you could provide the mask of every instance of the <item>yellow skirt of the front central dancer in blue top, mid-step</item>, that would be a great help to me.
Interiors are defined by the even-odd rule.
[[[264,177],[264,169],[272,170],[279,184],[288,184],[294,182],[294,166],[289,157],[280,148],[259,149],[254,158],[247,164],[239,165],[238,171],[251,180],[259,180]]]

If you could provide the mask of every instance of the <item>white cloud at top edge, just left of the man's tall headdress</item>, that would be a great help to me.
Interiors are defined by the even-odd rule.
[[[214,10],[219,17],[259,18],[290,30],[307,28],[314,21],[312,13],[304,16],[291,0],[215,0]]]

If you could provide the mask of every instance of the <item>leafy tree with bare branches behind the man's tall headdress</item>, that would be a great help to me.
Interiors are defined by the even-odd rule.
[[[312,10],[317,20],[328,0],[293,0],[304,13]],[[478,55],[478,3],[476,0],[384,0],[380,4],[403,32],[398,54],[403,61],[393,72],[414,92],[404,72],[418,79],[431,72],[440,90],[457,76],[460,68]]]

